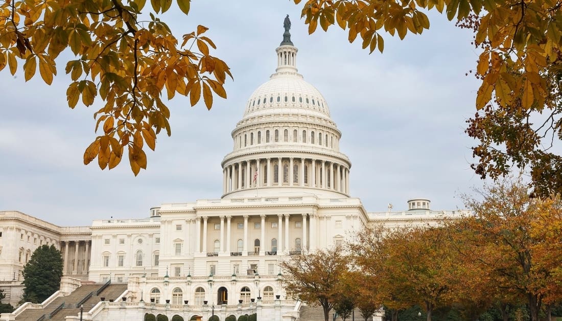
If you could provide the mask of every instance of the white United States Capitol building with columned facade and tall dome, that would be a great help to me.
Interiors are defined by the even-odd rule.
[[[285,24],[272,55],[277,69],[251,94],[232,131],[220,198],[161,204],[147,218],[99,219],[89,227],[0,211],[5,301],[20,300],[21,272],[35,248],[55,245],[64,259],[61,291],[0,320],[19,320],[34,309],[50,313],[57,297],[108,281],[126,290],[114,302],[84,301],[84,320],[143,320],[146,314],[224,320],[253,313],[258,320],[298,320],[304,304],[284,292],[280,261],[341,245],[366,225],[432,224],[463,215],[433,211],[424,198],[405,200],[403,211],[389,206],[370,213],[351,197],[351,161],[340,150],[345,141],[328,102],[298,74],[297,52]],[[75,311],[67,315],[79,320]]]

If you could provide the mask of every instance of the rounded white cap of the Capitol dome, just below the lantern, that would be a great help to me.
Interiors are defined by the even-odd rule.
[[[244,119],[282,113],[330,118],[328,103],[313,85],[297,73],[276,73],[250,96]]]

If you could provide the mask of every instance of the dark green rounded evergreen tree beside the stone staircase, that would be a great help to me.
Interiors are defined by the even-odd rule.
[[[40,303],[60,288],[62,255],[55,246],[43,245],[31,255],[24,266],[22,302]]]

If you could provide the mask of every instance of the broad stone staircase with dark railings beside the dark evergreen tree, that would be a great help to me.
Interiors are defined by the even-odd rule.
[[[72,292],[69,296],[58,297],[57,299],[53,300],[49,305],[47,305],[43,309],[26,309],[20,315],[16,317],[16,321],[25,320],[25,321],[35,321],[39,319],[43,314],[50,314],[55,309],[58,308],[63,302],[65,304],[65,308],[61,309],[51,317],[53,321],[64,321],[67,315],[76,316],[80,313],[80,307],[76,306],[85,296],[87,296],[91,292],[96,292],[99,288],[101,288],[103,284],[87,284],[83,285],[74,292]],[[88,300],[83,302],[84,310],[89,311],[96,305],[102,297],[105,297],[105,300],[115,300],[119,297],[123,292],[127,290],[126,283],[117,283],[117,284],[110,284],[107,286],[98,296],[92,295]]]

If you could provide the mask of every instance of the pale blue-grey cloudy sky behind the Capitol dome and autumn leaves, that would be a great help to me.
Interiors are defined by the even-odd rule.
[[[225,86],[228,99],[217,97],[207,111],[176,96],[169,102],[171,137],[158,137],[156,151],[147,152],[147,170],[134,177],[126,160],[111,171],[96,161],[83,165],[84,150],[96,137],[93,112],[102,102],[68,107],[65,61],[57,61],[51,86],[39,75],[25,83],[21,67],[17,77],[4,69],[0,211],[89,225],[146,217],[161,203],[220,198],[220,162],[232,151],[230,132],[250,94],[275,71],[286,14],[299,73],[328,101],[342,131],[341,151],[352,162],[351,196],[361,198],[367,211],[386,211],[389,202],[406,210],[413,197],[429,198],[432,209],[454,210],[463,208],[459,193],[481,186],[470,170],[475,142],[464,133],[478,88],[472,75],[465,76],[478,58],[470,31],[430,15],[432,25],[422,35],[404,41],[384,35],[384,53],[369,55],[335,26],[308,35],[292,1],[195,0],[187,17],[174,6],[163,19],[178,38],[198,24],[210,28],[207,35],[219,47],[214,55],[234,75]]]

